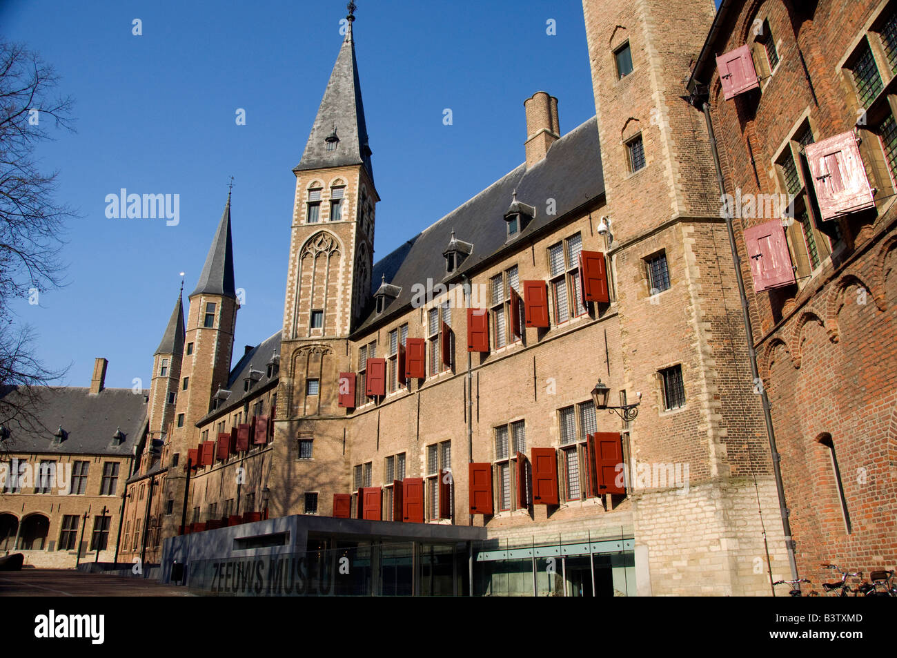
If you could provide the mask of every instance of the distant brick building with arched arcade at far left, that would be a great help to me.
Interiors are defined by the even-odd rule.
[[[96,360],[90,388],[0,391],[28,409],[0,427],[0,555],[57,568],[116,559],[122,483],[146,436],[147,398],[105,388],[106,368]]]

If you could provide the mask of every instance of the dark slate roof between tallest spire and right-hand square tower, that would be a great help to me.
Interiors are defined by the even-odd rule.
[[[504,215],[515,189],[518,203],[535,206],[536,217],[508,240]],[[604,191],[597,120],[593,117],[556,141],[544,160],[529,169],[526,163],[521,164],[377,261],[370,277],[371,294],[374,287],[379,287],[383,276],[387,283],[401,287],[402,292],[382,313],[372,311],[353,333],[361,333],[375,322],[386,321],[403,312],[414,296],[414,284],[429,288],[428,279],[432,284],[457,280],[462,274],[474,271],[484,260],[505,248],[514,249],[518,241],[544,230],[564,215],[600,197]],[[550,198],[554,199],[554,215],[547,215]],[[472,242],[474,249],[455,272],[447,276],[442,253],[448,247],[452,231],[457,240]]]

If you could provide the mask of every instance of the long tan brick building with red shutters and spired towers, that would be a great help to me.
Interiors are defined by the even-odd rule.
[[[713,4],[584,14],[596,118],[564,134],[536,92],[525,162],[377,262],[350,14],[293,170],[283,326],[231,368],[229,199],[184,338],[179,300],[155,355],[162,446],[128,483],[152,483],[129,498],[129,555],[142,518],[165,539],[310,514],[482,529],[461,585],[475,594],[768,594],[788,575],[710,138],[684,87]],[[601,387],[638,417],[597,408]],[[352,523],[301,548],[383,550],[391,531],[333,530]]]

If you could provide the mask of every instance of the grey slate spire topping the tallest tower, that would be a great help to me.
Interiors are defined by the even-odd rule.
[[[336,57],[324,99],[318,107],[318,116],[315,118],[314,126],[311,127],[305,152],[293,171],[363,164],[370,180],[373,180],[368,128],[364,123],[361,83],[358,80],[358,63],[355,60],[355,42],[352,34],[355,16],[352,3],[349,12],[346,16],[348,25],[343,46]]]

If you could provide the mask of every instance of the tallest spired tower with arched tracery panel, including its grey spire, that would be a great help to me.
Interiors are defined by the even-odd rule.
[[[301,500],[296,492],[306,486],[309,474],[302,472],[304,463],[291,459],[298,439],[314,439],[316,461],[334,458],[325,478],[332,478],[335,490],[344,487],[348,474],[339,373],[353,370],[348,337],[370,298],[379,201],[355,59],[354,8],[350,3],[343,44],[305,151],[293,169],[296,189],[270,478],[276,515],[303,511],[296,506]],[[318,475],[316,487],[319,513],[330,513],[328,483]]]

